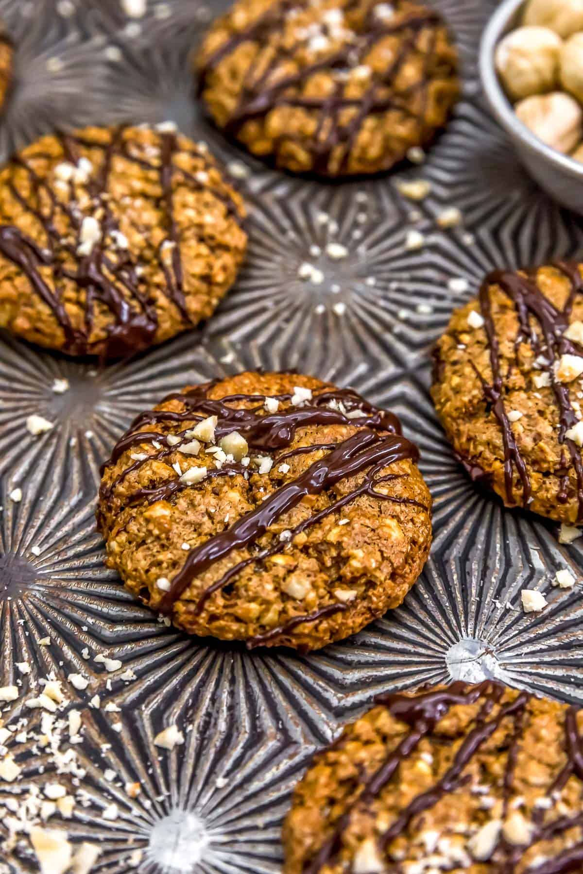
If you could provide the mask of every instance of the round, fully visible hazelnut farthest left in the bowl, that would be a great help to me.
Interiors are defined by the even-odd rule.
[[[562,45],[548,27],[519,27],[503,38],[496,49],[496,70],[512,100],[556,87]]]

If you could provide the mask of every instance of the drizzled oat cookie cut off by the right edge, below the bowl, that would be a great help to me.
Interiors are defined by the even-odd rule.
[[[434,403],[470,475],[565,524],[583,524],[581,292],[583,264],[496,271],[434,352]]]

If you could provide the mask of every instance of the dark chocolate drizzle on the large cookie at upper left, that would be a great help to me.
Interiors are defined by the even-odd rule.
[[[40,177],[33,166],[33,159],[25,160],[22,156],[14,156],[11,166],[14,170],[25,170],[30,185],[30,192],[23,194],[11,174],[7,186],[13,198],[37,219],[46,235],[45,248],[38,246],[26,233],[16,225],[0,225],[0,253],[15,264],[26,276],[32,290],[52,311],[64,334],[64,351],[70,355],[91,355],[96,348],[102,357],[127,357],[136,351],[148,348],[153,342],[158,327],[156,305],[149,295],[145,282],[139,275],[140,263],[135,260],[128,249],[107,242],[112,232],[119,231],[108,198],[109,177],[115,157],[138,164],[144,170],[156,173],[160,183],[160,203],[163,205],[166,240],[172,246],[171,268],[162,255],[162,246],[155,253],[156,260],[163,273],[165,284],[163,293],[176,306],[184,327],[191,323],[184,300],[184,277],[180,257],[180,239],[175,218],[172,181],[175,175],[181,177],[184,184],[195,190],[209,187],[202,184],[197,177],[178,166],[174,158],[177,153],[196,156],[203,170],[211,169],[211,159],[202,150],[185,149],[184,143],[178,145],[177,135],[171,132],[160,132],[160,158],[152,161],[142,154],[135,155],[131,142],[125,138],[127,128],[115,128],[109,142],[91,139],[88,135],[59,134],[63,160],[77,165],[80,159],[80,148],[101,151],[101,164],[92,171],[91,178],[85,183],[89,196],[92,198],[91,213],[101,209],[101,239],[99,239],[90,254],[78,253],[80,230],[83,216],[74,201],[74,186],[70,184],[68,202],[58,198],[52,183],[45,177]],[[52,160],[52,156],[38,153],[38,158]],[[213,196],[219,198],[230,216],[240,222],[241,215],[228,191],[223,186],[209,188]],[[45,206],[43,206],[43,202]],[[70,226],[75,240],[67,242],[57,229],[55,218],[61,214]],[[141,230],[138,228],[138,230]],[[65,267],[73,260],[74,269]],[[44,278],[42,268],[52,272],[52,283]],[[63,283],[73,281],[86,295],[85,323],[82,327],[73,327],[63,301]],[[95,307],[97,302],[106,307],[112,316],[108,324],[107,336],[104,340],[92,341],[94,329]]]

